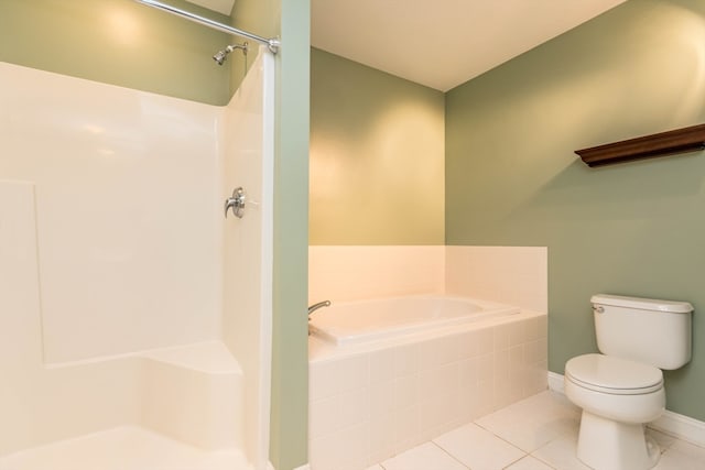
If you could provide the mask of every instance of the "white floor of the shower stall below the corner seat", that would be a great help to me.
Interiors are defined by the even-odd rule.
[[[251,470],[237,449],[206,451],[122,426],[0,457],[0,470]]]

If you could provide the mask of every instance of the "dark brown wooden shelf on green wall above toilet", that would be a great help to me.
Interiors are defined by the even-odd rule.
[[[588,166],[601,166],[705,149],[705,124],[576,150]]]

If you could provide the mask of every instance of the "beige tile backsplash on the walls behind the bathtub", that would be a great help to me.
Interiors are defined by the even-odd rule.
[[[547,311],[545,247],[308,248],[308,300],[449,294]]]

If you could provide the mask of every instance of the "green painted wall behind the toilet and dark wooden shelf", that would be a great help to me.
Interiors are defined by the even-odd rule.
[[[666,373],[668,407],[697,419],[705,153],[592,170],[573,151],[702,122],[702,0],[631,0],[446,97],[447,243],[549,247],[554,372],[596,350],[592,294],[690,300],[693,360]]]

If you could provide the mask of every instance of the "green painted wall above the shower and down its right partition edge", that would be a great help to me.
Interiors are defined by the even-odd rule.
[[[271,460],[291,470],[307,461],[310,2],[238,0],[232,19],[167,3],[284,43],[276,57]],[[241,42],[131,0],[0,0],[2,62],[212,105],[227,103],[245,75],[241,53],[223,67],[212,58],[234,41]]]

